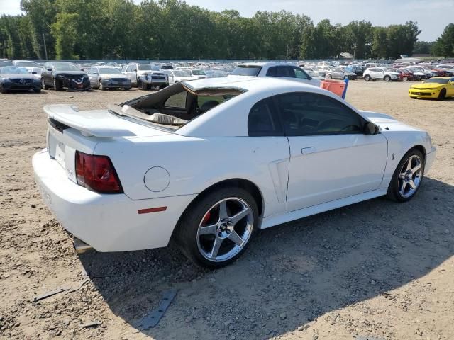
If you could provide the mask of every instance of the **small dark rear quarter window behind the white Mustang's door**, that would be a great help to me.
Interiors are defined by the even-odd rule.
[[[271,98],[263,99],[250,109],[248,117],[250,136],[282,136],[282,128],[276,119],[275,107]]]

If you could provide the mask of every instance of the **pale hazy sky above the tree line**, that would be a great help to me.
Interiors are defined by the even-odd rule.
[[[140,0],[134,0],[140,4]],[[454,21],[454,0],[186,0],[212,11],[236,9],[241,16],[256,11],[280,11],[306,14],[314,23],[328,18],[345,25],[353,20],[367,20],[372,25],[417,21],[422,30],[419,40],[436,40],[448,23]],[[21,0],[0,0],[0,14],[21,13]]]

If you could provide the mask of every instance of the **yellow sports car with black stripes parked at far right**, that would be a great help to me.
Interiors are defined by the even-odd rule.
[[[412,99],[454,97],[454,77],[433,77],[411,85],[409,96]]]

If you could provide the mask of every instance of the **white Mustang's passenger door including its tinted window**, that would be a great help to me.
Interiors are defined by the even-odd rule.
[[[295,92],[275,97],[290,146],[287,210],[373,191],[382,183],[387,140],[341,101]]]

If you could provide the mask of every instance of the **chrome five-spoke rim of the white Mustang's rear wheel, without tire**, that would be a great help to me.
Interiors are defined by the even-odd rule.
[[[200,254],[216,262],[233,258],[248,243],[253,224],[253,210],[245,200],[219,200],[209,208],[197,229]]]

